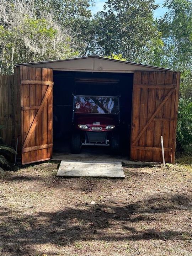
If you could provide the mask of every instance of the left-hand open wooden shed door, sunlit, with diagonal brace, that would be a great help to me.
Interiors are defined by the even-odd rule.
[[[20,66],[22,164],[48,160],[53,148],[53,70]]]

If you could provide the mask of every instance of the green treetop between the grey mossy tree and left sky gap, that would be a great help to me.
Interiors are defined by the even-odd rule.
[[[41,12],[52,12],[56,22],[63,29],[73,31],[78,44],[74,49],[85,56],[89,52],[90,43],[95,39],[96,20],[91,16],[89,7],[94,4],[89,0],[34,0],[37,16]]]

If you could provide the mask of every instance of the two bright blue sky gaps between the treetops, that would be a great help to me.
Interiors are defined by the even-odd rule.
[[[106,1],[104,0],[95,0],[95,6],[91,7],[91,11],[93,14],[96,14],[96,12],[103,10],[103,5],[105,4]],[[154,12],[154,17],[159,18],[164,15],[166,12],[166,8],[162,7],[164,0],[156,0],[155,3],[159,4],[159,8],[155,10]]]

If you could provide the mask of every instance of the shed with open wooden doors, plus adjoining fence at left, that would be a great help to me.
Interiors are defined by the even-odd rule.
[[[123,153],[162,162],[162,135],[165,161],[174,163],[179,84],[180,72],[96,56],[17,64],[0,78],[1,137],[14,148],[18,138],[22,164],[51,159],[53,145],[70,137],[73,92],[118,90]]]

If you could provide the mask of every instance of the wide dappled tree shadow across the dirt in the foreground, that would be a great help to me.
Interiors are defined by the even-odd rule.
[[[171,230],[166,225],[163,229],[154,229],[153,222],[160,219],[162,213],[169,214],[171,210],[190,211],[190,205],[191,200],[187,196],[164,194],[124,206],[85,203],[56,212],[42,210],[31,215],[1,208],[1,253],[12,256],[37,255],[34,245],[66,246],[79,240],[183,240],[180,230]],[[149,224],[145,230],[137,228],[137,223],[142,221]],[[184,231],[185,240],[190,239],[188,237],[192,234],[188,229]]]

